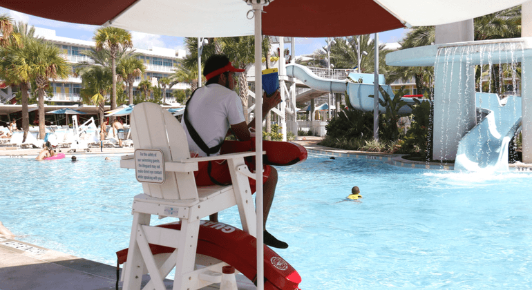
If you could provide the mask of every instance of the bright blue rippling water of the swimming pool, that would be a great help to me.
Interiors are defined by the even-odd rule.
[[[18,240],[115,265],[142,192],[119,161],[0,159],[0,221]],[[278,171],[267,229],[289,243],[276,252],[301,289],[532,287],[532,175],[323,155]],[[361,200],[345,199],[352,186]],[[238,225],[236,208],[220,221]]]

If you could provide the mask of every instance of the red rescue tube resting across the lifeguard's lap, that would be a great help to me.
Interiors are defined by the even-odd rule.
[[[255,151],[255,144],[251,144],[251,141],[225,141],[220,153],[245,151]],[[263,141],[263,151],[266,151],[263,157],[265,165],[288,166],[307,160],[307,149],[292,142]]]

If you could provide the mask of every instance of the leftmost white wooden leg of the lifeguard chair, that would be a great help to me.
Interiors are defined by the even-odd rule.
[[[144,273],[144,259],[137,244],[137,231],[140,226],[150,224],[151,215],[145,213],[134,213],[133,225],[131,226],[131,238],[129,240],[129,251],[127,255],[127,265],[124,276],[124,290],[140,289],[142,273]]]

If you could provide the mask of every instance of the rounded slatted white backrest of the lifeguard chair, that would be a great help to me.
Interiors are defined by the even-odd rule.
[[[158,149],[165,162],[190,158],[187,136],[167,110],[154,103],[137,104],[131,113],[131,132],[136,149]],[[144,194],[169,200],[198,200],[192,173],[165,172],[163,184],[142,183]]]

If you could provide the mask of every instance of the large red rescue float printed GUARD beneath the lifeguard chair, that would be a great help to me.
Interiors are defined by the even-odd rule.
[[[177,230],[181,228],[179,222],[160,226]],[[150,244],[150,248],[154,255],[174,250],[153,244]],[[120,264],[126,262],[127,251],[128,249],[124,249],[117,252]],[[256,239],[245,231],[221,222],[202,221],[196,253],[230,264],[256,284]],[[268,290],[298,289],[301,282],[299,273],[267,246],[264,246],[264,278],[265,289]]]

